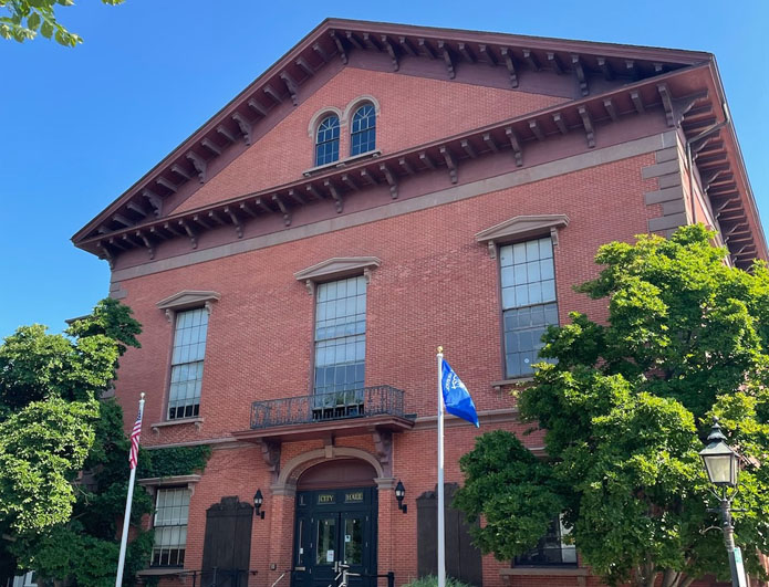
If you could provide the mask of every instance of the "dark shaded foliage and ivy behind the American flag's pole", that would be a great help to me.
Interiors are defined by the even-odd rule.
[[[125,307],[125,306],[123,306]],[[112,587],[115,584],[119,532],[128,491],[128,438],[123,432],[123,410],[114,399],[100,402],[95,441],[85,461],[87,483],[81,483],[72,517],[44,532],[19,537],[11,546],[23,568],[34,569],[46,583],[55,579],[76,587]],[[139,448],[137,476],[190,474],[205,468],[210,447],[179,447],[147,451]],[[133,585],[147,566],[154,534],[142,527],[152,512],[152,497],[134,488],[131,510],[132,539],[123,583]]]

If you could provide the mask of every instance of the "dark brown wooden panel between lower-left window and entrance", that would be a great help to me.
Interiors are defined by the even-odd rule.
[[[237,496],[222,497],[206,511],[201,584],[247,587],[253,506]]]

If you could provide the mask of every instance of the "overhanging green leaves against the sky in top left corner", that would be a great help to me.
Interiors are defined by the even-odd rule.
[[[102,0],[102,3],[115,6],[123,1]],[[0,17],[0,36],[23,43],[28,39],[34,39],[40,31],[45,39],[53,36],[64,46],[82,43],[81,36],[67,31],[56,20],[56,4],[70,7],[74,4],[74,0],[0,0],[0,8],[8,11],[7,17]]]

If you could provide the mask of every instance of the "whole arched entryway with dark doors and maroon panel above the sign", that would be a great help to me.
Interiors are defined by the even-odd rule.
[[[360,459],[334,459],[304,470],[297,482],[293,587],[334,584],[339,564],[376,574],[377,471]],[[351,587],[370,587],[351,577]]]

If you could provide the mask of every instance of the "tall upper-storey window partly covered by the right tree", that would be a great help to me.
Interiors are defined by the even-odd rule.
[[[552,239],[499,249],[508,377],[533,374],[547,327],[558,324]]]

